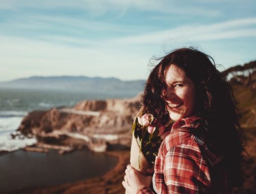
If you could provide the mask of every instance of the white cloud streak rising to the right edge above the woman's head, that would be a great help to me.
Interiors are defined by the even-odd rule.
[[[256,18],[244,18],[210,25],[189,25],[136,36],[117,38],[120,44],[159,44],[169,39],[206,41],[256,36]]]

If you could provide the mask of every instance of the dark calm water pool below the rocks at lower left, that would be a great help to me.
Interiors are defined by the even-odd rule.
[[[0,156],[0,191],[47,187],[103,175],[113,168],[117,158],[90,151],[59,155],[18,150]]]

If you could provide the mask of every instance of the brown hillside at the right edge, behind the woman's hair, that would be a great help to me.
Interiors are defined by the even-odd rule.
[[[243,165],[245,183],[239,193],[255,193],[256,190],[256,61],[245,65],[231,67],[223,72],[229,77],[233,93],[239,102],[242,111],[242,128],[244,129],[247,144],[246,151],[250,157],[246,157]]]

